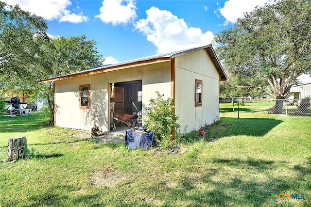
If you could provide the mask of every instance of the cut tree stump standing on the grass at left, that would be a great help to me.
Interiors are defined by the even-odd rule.
[[[13,161],[24,159],[27,156],[27,140],[26,137],[14,137],[8,139],[8,157],[5,161]]]

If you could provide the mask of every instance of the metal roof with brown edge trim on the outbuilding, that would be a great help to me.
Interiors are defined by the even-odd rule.
[[[133,60],[129,60],[129,61],[124,61],[124,62],[120,62],[120,63],[116,63],[116,64],[107,64],[107,65],[102,65],[99,67],[95,67],[89,70],[84,70],[84,71],[80,71],[80,72],[76,72],[76,73],[71,73],[71,74],[67,74],[67,75],[63,75],[63,76],[57,76],[57,77],[52,77],[49,78],[47,80],[43,80],[43,81],[54,81],[54,80],[60,80],[60,79],[66,79],[66,78],[70,78],[71,76],[76,76],[76,75],[89,75],[90,73],[102,73],[105,72],[105,70],[110,69],[110,68],[118,68],[121,66],[126,66],[126,65],[135,65],[135,64],[139,64],[139,63],[144,63],[144,62],[149,62],[149,61],[156,61],[156,60],[171,60],[174,57],[178,57],[187,53],[190,53],[192,51],[196,51],[196,50],[200,50],[200,49],[204,49],[207,51],[207,54],[209,55],[209,57],[211,58],[213,64],[215,65],[221,80],[226,80],[227,77],[225,75],[225,71],[222,68],[214,49],[212,48],[211,44],[206,45],[206,46],[202,46],[202,47],[196,47],[196,48],[190,48],[190,49],[183,49],[183,50],[179,50],[179,51],[174,51],[174,52],[167,52],[167,53],[163,53],[163,54],[157,54],[157,55],[152,55],[152,56],[146,56],[146,57],[142,57],[142,58],[138,58],[138,59],[133,59]]]

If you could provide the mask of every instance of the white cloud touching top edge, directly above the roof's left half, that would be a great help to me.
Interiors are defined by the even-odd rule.
[[[103,0],[100,18],[105,23],[113,25],[128,23],[136,18],[136,5],[133,0]]]

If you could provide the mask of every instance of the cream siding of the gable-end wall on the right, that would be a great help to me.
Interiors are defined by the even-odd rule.
[[[207,52],[198,50],[175,58],[175,113],[180,132],[188,133],[219,119],[219,74]],[[194,82],[202,80],[202,106],[195,107]]]

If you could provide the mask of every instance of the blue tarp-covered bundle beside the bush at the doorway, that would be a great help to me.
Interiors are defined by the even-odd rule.
[[[125,144],[130,149],[148,150],[152,145],[153,138],[153,131],[145,131],[143,127],[129,128],[126,130]]]

